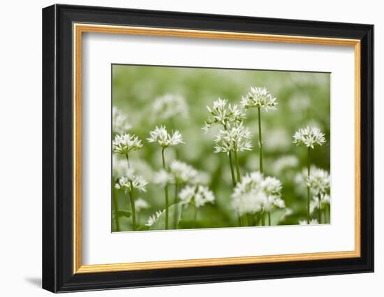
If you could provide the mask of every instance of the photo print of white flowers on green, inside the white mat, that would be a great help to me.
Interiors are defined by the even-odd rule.
[[[330,224],[330,73],[112,64],[112,232]]]

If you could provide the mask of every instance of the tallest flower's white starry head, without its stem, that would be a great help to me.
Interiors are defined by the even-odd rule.
[[[251,87],[240,101],[242,108],[264,108],[266,111],[276,110],[277,104],[276,98],[265,87]]]

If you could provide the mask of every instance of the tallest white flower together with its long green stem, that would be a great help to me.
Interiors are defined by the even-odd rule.
[[[259,146],[259,170],[263,173],[263,135],[261,129],[261,108],[276,110],[277,101],[265,87],[251,87],[250,91],[242,98],[240,106],[243,108],[258,109],[258,146]]]

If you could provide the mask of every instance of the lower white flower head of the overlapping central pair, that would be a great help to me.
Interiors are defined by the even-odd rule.
[[[231,151],[244,152],[244,150],[252,150],[251,144],[251,131],[244,127],[242,122],[236,123],[228,130],[220,130],[219,134],[214,139],[216,143],[214,152],[226,152],[229,154]]]

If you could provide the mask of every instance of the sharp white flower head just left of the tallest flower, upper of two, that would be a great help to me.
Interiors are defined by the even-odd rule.
[[[205,120],[205,125],[202,127],[205,133],[215,124],[221,124],[226,127],[228,124],[242,122],[245,119],[244,112],[237,104],[227,105],[227,103],[228,100],[219,98],[214,101],[212,108],[207,106],[207,110],[212,115],[212,118]]]

